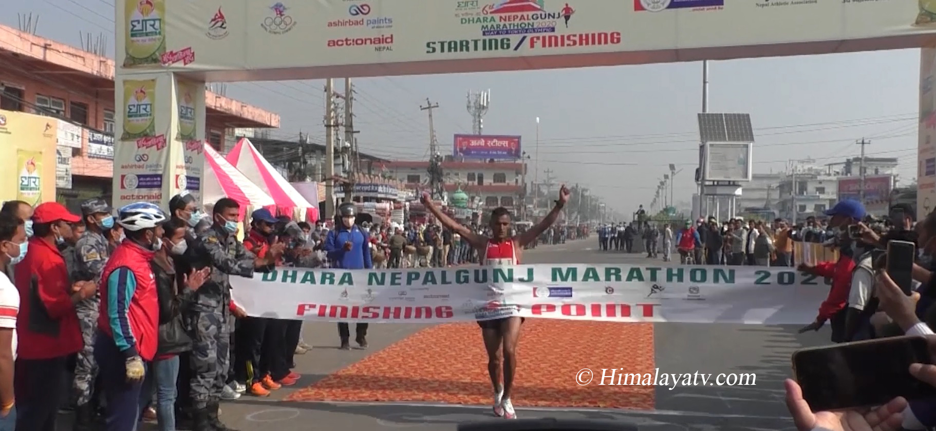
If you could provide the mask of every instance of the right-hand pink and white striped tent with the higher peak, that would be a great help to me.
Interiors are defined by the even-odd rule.
[[[318,219],[318,203],[310,203],[260,155],[250,139],[241,137],[227,153],[227,162],[237,167],[247,179],[269,194],[276,212],[292,216],[297,210],[309,212],[310,222]]]

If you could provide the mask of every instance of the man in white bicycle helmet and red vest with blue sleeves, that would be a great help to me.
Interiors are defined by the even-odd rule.
[[[126,238],[101,271],[95,360],[107,398],[106,429],[136,429],[146,364],[158,343],[159,301],[150,261],[162,247],[166,214],[148,202],[117,211]]]

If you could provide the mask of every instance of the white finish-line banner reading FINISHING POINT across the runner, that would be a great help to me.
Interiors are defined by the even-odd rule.
[[[444,323],[523,316],[612,322],[812,322],[828,281],[780,267],[276,268],[232,277],[234,301],[275,319]]]

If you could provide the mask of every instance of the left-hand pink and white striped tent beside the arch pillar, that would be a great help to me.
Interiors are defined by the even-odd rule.
[[[207,143],[205,144],[205,166],[209,168],[209,172],[201,179],[201,194],[206,204],[213,204],[222,197],[234,199],[241,204],[241,220],[247,208],[275,205],[270,194],[260,189]]]

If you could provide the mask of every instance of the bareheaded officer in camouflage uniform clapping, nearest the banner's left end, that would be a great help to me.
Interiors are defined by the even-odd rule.
[[[283,255],[284,245],[273,244],[264,258],[247,251],[235,237],[238,230],[240,205],[230,198],[221,198],[212,210],[212,227],[196,240],[193,256],[202,262],[192,266],[212,268],[211,278],[195,294],[192,310],[185,321],[192,331],[193,431],[229,431],[218,419],[221,392],[227,383],[230,327],[227,320],[235,307],[231,305],[228,275],[253,277],[254,271],[269,271]],[[236,314],[241,310],[237,309]],[[244,317],[244,316],[237,316]]]

